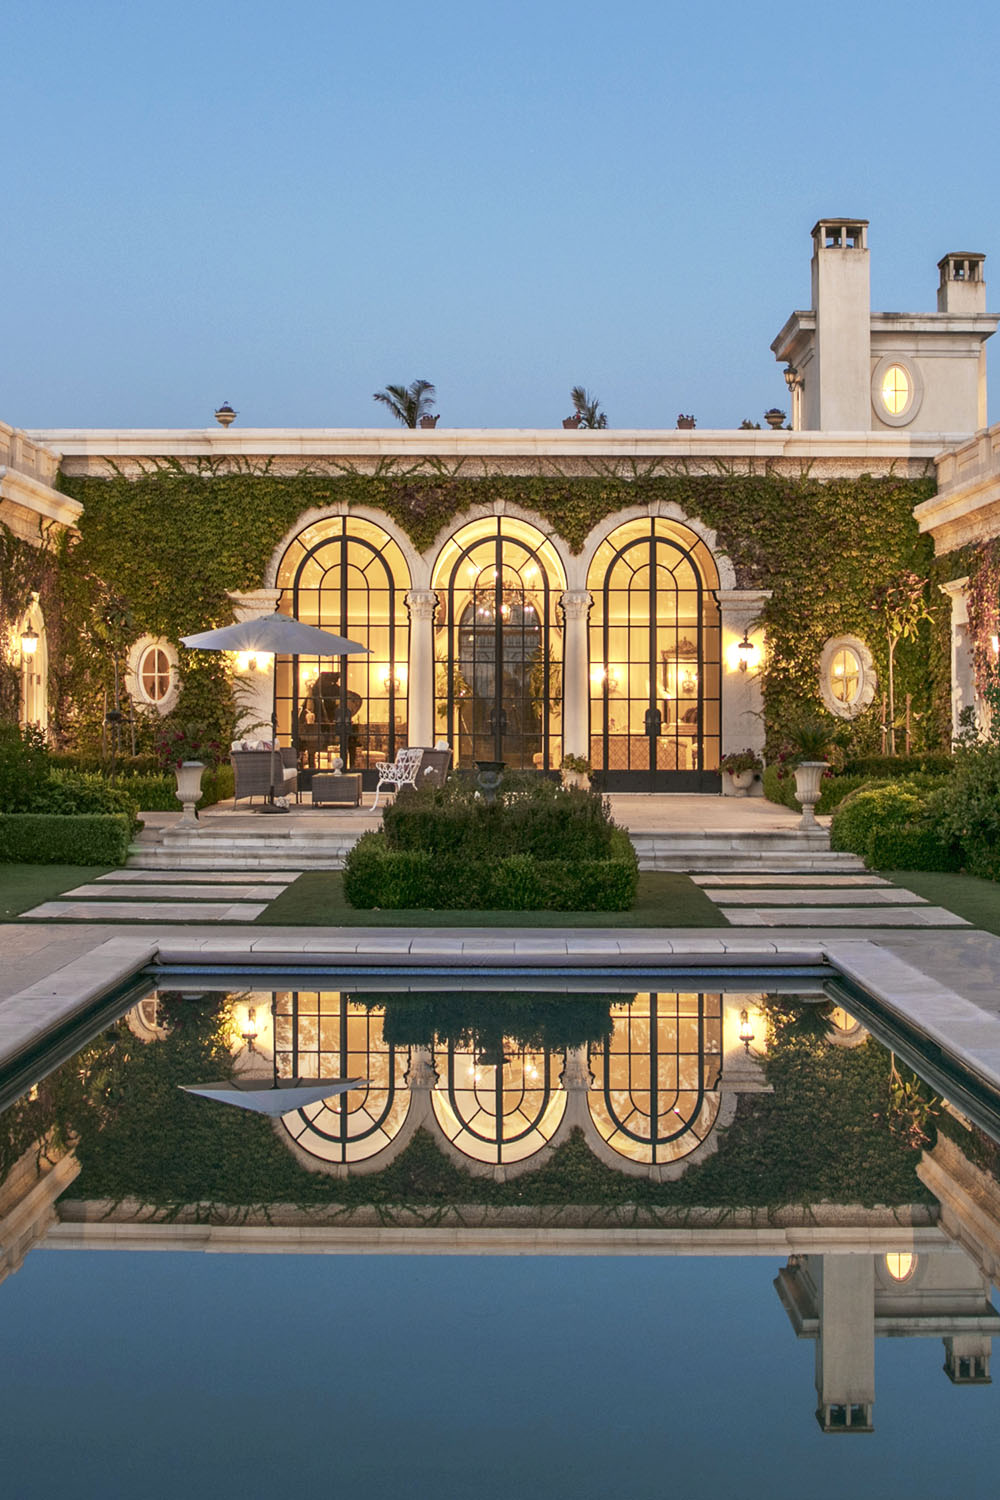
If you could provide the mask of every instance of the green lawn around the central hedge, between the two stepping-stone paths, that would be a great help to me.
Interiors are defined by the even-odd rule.
[[[337,870],[300,874],[256,918],[268,927],[727,927],[687,874],[639,876],[630,912],[358,910],[343,898]]]

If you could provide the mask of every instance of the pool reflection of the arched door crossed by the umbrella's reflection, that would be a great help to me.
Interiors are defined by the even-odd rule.
[[[399,1134],[409,1108],[408,1054],[382,1038],[382,1011],[334,992],[274,998],[274,1048],[282,1078],[367,1078],[349,1094],[283,1118],[303,1150],[324,1161],[366,1161]]]

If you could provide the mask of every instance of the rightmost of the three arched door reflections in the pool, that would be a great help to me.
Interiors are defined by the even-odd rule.
[[[591,1048],[594,1124],[630,1161],[688,1156],[718,1114],[721,996],[637,994],[612,1016],[610,1040]]]

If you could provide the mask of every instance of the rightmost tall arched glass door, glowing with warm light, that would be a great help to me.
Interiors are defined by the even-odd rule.
[[[610,792],[718,792],[718,573],[687,526],[627,522],[597,549],[591,765]]]

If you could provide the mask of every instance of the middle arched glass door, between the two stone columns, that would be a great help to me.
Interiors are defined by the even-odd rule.
[[[559,765],[565,588],[550,542],[505,516],[463,526],[435,568],[435,726],[456,764]]]

